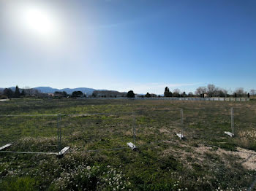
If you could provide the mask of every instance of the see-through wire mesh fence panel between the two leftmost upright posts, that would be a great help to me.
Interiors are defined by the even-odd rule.
[[[133,139],[132,113],[91,113],[61,116],[61,144],[80,152],[120,149]]]

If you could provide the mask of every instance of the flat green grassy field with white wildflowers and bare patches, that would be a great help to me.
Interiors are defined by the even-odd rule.
[[[256,101],[20,99],[0,114],[13,115],[0,117],[5,151],[71,147],[60,159],[0,152],[0,190],[248,190],[256,179]]]

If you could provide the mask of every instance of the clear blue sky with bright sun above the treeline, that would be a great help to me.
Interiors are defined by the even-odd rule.
[[[0,0],[0,87],[256,89],[255,9],[255,0]]]

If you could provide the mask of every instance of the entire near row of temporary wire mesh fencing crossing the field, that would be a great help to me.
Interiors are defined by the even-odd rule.
[[[255,114],[256,109],[225,107],[1,115],[0,147],[12,147],[0,152],[58,154],[67,146],[75,152],[90,152],[124,149],[129,142],[143,147],[178,138],[217,147],[256,149]]]

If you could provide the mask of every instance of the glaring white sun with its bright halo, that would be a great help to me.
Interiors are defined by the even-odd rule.
[[[67,28],[61,10],[51,5],[48,1],[8,1],[3,18],[6,20],[4,29],[12,36],[11,40],[24,47],[61,52]]]

